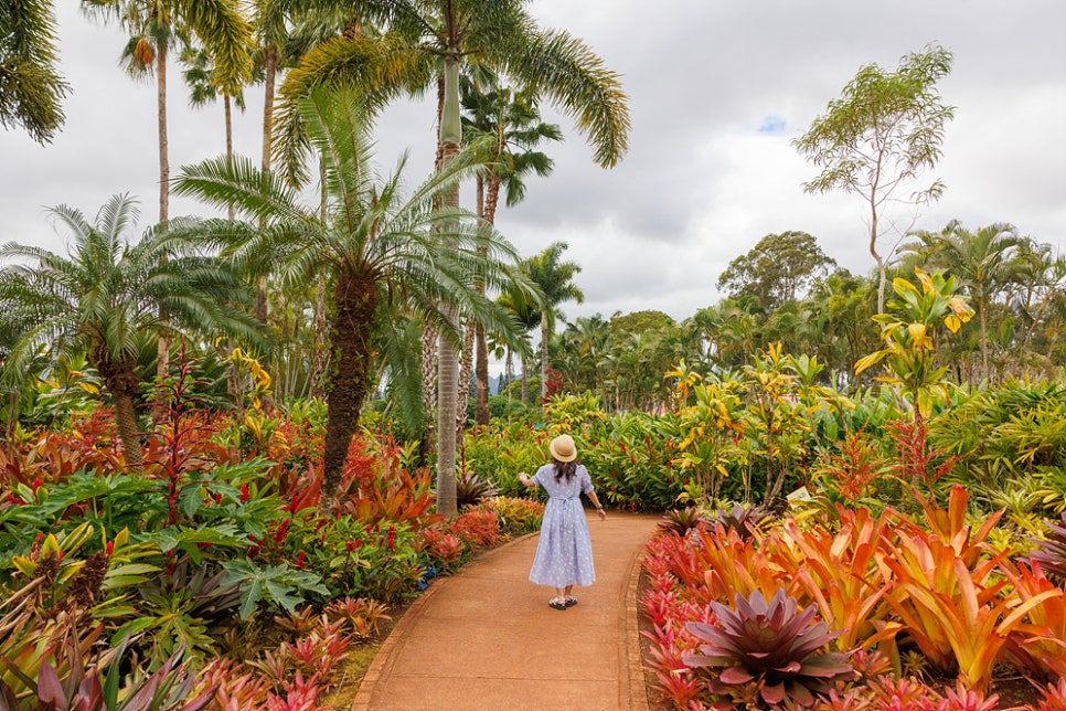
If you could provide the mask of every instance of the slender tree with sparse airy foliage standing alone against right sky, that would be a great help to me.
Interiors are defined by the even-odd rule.
[[[951,71],[952,55],[940,46],[913,52],[895,72],[877,64],[859,70],[841,98],[792,141],[822,172],[803,183],[807,192],[843,190],[860,195],[868,220],[870,254],[877,264],[877,312],[885,308],[886,259],[877,247],[885,211],[899,203],[940,199],[944,183],[919,185],[921,173],[940,159],[944,128],[955,116],[937,82]],[[891,256],[891,255],[889,255]]]

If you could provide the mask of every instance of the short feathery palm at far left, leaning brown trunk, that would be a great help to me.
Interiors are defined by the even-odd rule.
[[[257,339],[254,321],[235,308],[248,295],[233,273],[195,256],[174,225],[150,229],[130,244],[138,211],[127,195],[113,197],[95,223],[66,205],[51,212],[72,233],[67,257],[13,242],[0,247],[0,261],[32,263],[0,272],[0,320],[20,333],[0,379],[20,384],[42,349],[53,355],[85,351],[115,401],[126,458],[137,464],[138,338],[166,330]],[[161,308],[170,319],[159,319]]]

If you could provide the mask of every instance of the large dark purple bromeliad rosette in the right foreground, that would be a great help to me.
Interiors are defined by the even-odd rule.
[[[707,669],[712,693],[731,704],[809,708],[838,681],[854,679],[849,655],[824,651],[840,633],[813,622],[818,606],[797,611],[796,599],[778,590],[769,602],[756,591],[736,596],[736,609],[712,603],[717,624],[690,622],[702,643],[684,664]],[[735,705],[723,707],[735,708]]]

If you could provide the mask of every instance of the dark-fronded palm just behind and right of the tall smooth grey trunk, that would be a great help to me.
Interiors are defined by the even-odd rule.
[[[563,132],[556,124],[541,120],[536,97],[525,92],[513,92],[498,84],[482,89],[471,79],[463,81],[460,89],[463,140],[483,146],[482,159],[488,167],[477,178],[478,214],[487,223],[495,224],[501,188],[509,208],[519,204],[525,198],[525,177],[544,178],[552,172],[554,161],[535,150],[536,146],[544,140],[562,140]],[[471,340],[476,342],[473,349]],[[470,353],[471,350],[476,353]],[[473,323],[467,326],[460,385],[469,379],[467,363],[471,354],[476,354],[477,363],[475,423],[488,425],[489,353],[484,329]]]

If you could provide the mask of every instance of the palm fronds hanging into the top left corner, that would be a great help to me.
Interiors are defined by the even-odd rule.
[[[0,126],[49,144],[63,126],[70,84],[55,68],[55,12],[49,0],[0,3]]]

